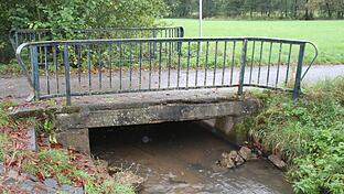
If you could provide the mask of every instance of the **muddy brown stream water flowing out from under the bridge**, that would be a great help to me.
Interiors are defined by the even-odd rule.
[[[292,193],[264,159],[235,170],[217,166],[223,152],[237,148],[195,122],[94,129],[90,138],[95,157],[146,179],[140,193]]]

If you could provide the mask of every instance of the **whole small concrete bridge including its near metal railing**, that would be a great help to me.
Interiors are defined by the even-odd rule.
[[[307,46],[314,50],[305,57]],[[57,139],[84,152],[90,128],[213,119],[229,133],[259,107],[246,87],[297,100],[316,55],[308,41],[268,37],[42,41],[17,48],[31,98],[62,105],[53,108]]]

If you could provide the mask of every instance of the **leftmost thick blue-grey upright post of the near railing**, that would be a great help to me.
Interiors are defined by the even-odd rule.
[[[34,99],[40,99],[40,69],[39,69],[39,53],[37,46],[30,46],[31,65],[32,65],[32,80],[34,89]]]

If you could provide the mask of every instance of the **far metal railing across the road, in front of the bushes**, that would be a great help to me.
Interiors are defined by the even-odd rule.
[[[183,37],[182,26],[161,28],[111,28],[111,29],[13,29],[9,39],[13,50],[25,42],[54,40],[99,40],[99,39],[144,39],[144,37]]]

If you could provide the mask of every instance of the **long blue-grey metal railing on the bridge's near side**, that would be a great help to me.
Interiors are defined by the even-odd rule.
[[[311,42],[267,37],[51,41],[17,50],[34,98],[65,96],[67,105],[72,96],[152,90],[237,87],[241,95],[244,86],[297,99],[316,56]]]

